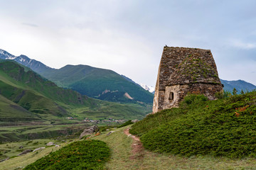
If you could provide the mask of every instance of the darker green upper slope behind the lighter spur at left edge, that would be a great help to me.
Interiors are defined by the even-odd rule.
[[[82,103],[83,105],[87,104],[87,106],[90,106],[90,103],[86,103],[88,101],[86,96],[81,96],[78,92],[69,89],[62,89],[35,72],[29,70],[26,72],[24,67],[19,66],[16,62],[2,62],[0,66],[2,67],[1,74],[5,74],[4,77],[9,79],[9,82],[18,83],[19,87],[23,89],[31,89],[61,103]]]

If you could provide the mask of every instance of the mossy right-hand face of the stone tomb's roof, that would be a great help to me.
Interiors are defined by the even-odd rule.
[[[207,55],[206,55],[207,54]],[[194,51],[178,65],[167,81],[167,86],[176,84],[220,84],[216,67],[213,67],[210,50],[205,54]],[[215,66],[215,63],[214,63]]]

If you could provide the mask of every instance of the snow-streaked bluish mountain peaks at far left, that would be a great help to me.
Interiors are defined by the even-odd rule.
[[[1,60],[14,60],[15,62],[18,62],[26,67],[31,68],[34,72],[43,72],[46,69],[52,69],[42,62],[38,62],[36,60],[30,59],[26,57],[26,55],[20,55],[20,56],[14,56],[11,55],[9,52],[6,52],[5,50],[0,49],[0,59]]]

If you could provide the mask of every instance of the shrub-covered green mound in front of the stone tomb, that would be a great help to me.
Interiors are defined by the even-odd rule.
[[[149,115],[130,132],[151,151],[255,157],[255,120],[256,91],[216,101],[191,95],[180,108]]]

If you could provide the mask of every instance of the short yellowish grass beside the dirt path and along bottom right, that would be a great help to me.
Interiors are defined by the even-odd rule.
[[[129,127],[129,126],[128,126]],[[124,135],[127,127],[113,129],[115,132],[93,137],[102,140],[112,150],[108,169],[256,169],[254,159],[228,159],[224,157],[178,157],[170,154],[158,154],[144,151],[140,159],[130,159],[132,156],[132,138]]]

